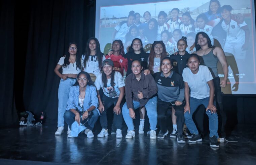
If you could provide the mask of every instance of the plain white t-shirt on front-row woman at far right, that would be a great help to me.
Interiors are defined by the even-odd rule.
[[[199,70],[196,74],[186,67],[182,72],[183,81],[188,83],[191,90],[190,97],[196,99],[204,99],[210,96],[210,88],[208,81],[213,79],[213,76],[207,66],[199,65]]]

